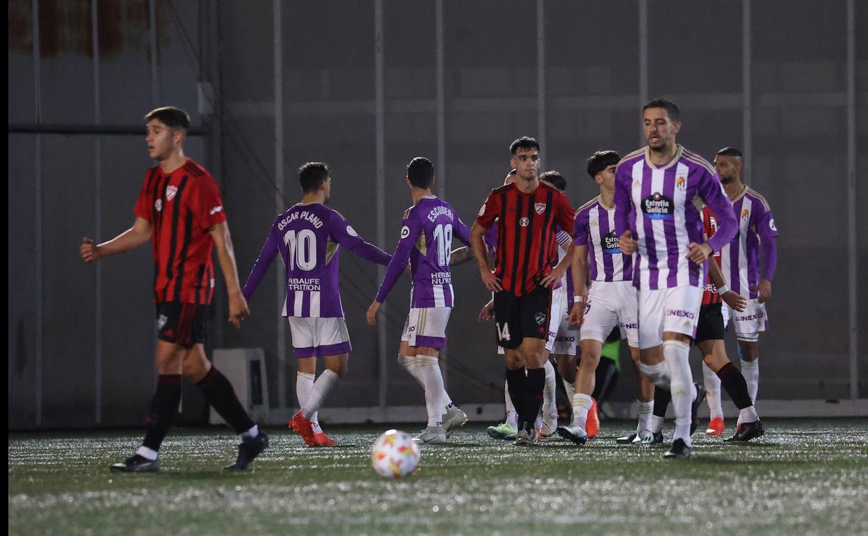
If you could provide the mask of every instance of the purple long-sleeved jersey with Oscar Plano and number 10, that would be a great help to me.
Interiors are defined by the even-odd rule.
[[[356,233],[344,216],[320,203],[297,204],[274,221],[242,291],[250,300],[278,251],[286,268],[284,316],[344,316],[338,284],[338,246],[388,264],[391,257]]]

